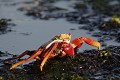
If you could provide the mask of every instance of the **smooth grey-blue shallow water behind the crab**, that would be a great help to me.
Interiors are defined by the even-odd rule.
[[[0,18],[12,19],[12,23],[16,24],[16,26],[12,27],[13,32],[0,35],[1,51],[20,54],[25,50],[34,50],[55,35],[61,33],[71,33],[72,39],[75,37],[87,36],[97,40],[97,38],[87,34],[87,31],[79,30],[78,26],[82,25],[70,23],[65,19],[40,20],[27,17],[24,15],[24,12],[17,10],[20,6],[24,5],[21,4],[22,1],[24,0],[0,0]],[[18,4],[11,5],[13,3]],[[70,3],[61,1],[54,5],[59,7],[62,6],[63,8],[72,11],[74,9],[70,7],[71,3],[74,3],[74,1],[71,1]],[[70,30],[70,28],[74,28],[75,30]],[[117,43],[109,42],[108,44],[116,45]],[[83,44],[80,51],[86,49],[93,49],[93,47]]]

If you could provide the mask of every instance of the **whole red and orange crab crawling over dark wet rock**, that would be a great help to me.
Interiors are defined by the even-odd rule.
[[[58,57],[63,57],[65,55],[70,55],[70,56],[74,56],[74,49],[75,48],[80,48],[83,44],[83,42],[97,47],[98,50],[100,50],[100,43],[92,40],[90,38],[87,37],[79,37],[76,38],[72,41],[71,40],[71,34],[59,34],[55,37],[53,37],[50,41],[48,41],[47,43],[43,44],[42,46],[40,46],[37,50],[32,50],[32,51],[25,51],[22,54],[20,54],[17,57],[14,58],[9,58],[6,59],[5,61],[9,61],[12,59],[18,59],[21,58],[25,55],[29,55],[30,57],[24,60],[21,60],[15,64],[13,64],[10,67],[10,70],[25,63],[25,62],[29,62],[32,59],[37,59],[37,60],[41,60],[41,64],[40,64],[40,70],[43,70],[43,66],[45,64],[45,62],[47,61],[47,59],[49,58],[53,58],[55,56]]]

